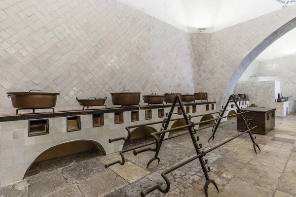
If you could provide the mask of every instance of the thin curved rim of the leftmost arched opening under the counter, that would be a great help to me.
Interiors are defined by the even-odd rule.
[[[68,141],[68,142],[64,142],[64,143],[60,143],[60,144],[57,144],[55,146],[52,146],[46,150],[44,150],[41,154],[39,154],[37,156],[37,158],[35,158],[35,160],[29,165],[29,167],[27,168],[26,172],[24,173],[24,176],[23,176],[23,179],[25,178],[27,172],[29,171],[29,169],[32,167],[32,165],[34,163],[36,163],[40,157],[42,157],[42,155],[44,155],[45,153],[48,153],[48,151],[52,151],[60,146],[63,146],[63,145],[68,145],[68,144],[71,144],[71,143],[75,143],[75,142],[91,142],[93,143],[95,146],[97,146],[97,148],[99,148],[99,150],[102,152],[103,155],[106,155],[106,151],[105,151],[105,148],[102,146],[102,144],[100,144],[98,141],[95,141],[95,140],[90,140],[90,139],[78,139],[78,140],[74,140],[74,141]],[[64,155],[66,156],[66,155]],[[59,157],[59,156],[58,156]],[[62,156],[60,156],[62,157]],[[52,158],[53,159],[53,158]]]

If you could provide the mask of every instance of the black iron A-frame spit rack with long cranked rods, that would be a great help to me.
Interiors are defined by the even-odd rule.
[[[226,112],[226,108],[230,102],[230,100],[234,100],[234,103],[237,107],[237,111],[238,113],[237,114],[233,114],[233,115],[228,115],[228,116],[223,116],[224,113]],[[177,102],[179,103],[179,106],[181,107],[181,110],[182,110],[182,114],[183,114],[183,117],[182,118],[175,118],[175,119],[172,119],[172,114],[174,114],[174,108],[177,104]],[[118,140],[124,140],[124,141],[129,141],[131,139],[131,129],[134,129],[134,128],[138,128],[138,127],[144,127],[144,126],[149,126],[149,125],[155,125],[155,124],[162,124],[162,128],[161,131],[157,131],[157,132],[153,132],[153,133],[150,133],[150,135],[155,139],[155,142],[150,142],[150,143],[146,143],[146,144],[143,144],[143,145],[139,145],[139,146],[135,146],[135,147],[132,147],[132,148],[129,148],[129,149],[126,149],[126,150],[123,150],[123,151],[120,151],[119,154],[121,156],[121,159],[122,161],[115,161],[111,164],[106,164],[105,167],[109,167],[111,165],[114,165],[114,164],[120,164],[120,165],[124,165],[125,164],[125,158],[124,158],[124,155],[123,153],[126,153],[126,152],[129,152],[129,151],[134,151],[134,155],[138,155],[139,153],[143,153],[143,152],[146,152],[146,151],[152,151],[152,152],[155,152],[155,156],[148,162],[147,164],[147,168],[149,166],[149,164],[151,164],[154,160],[157,160],[158,161],[158,164],[160,162],[160,158],[158,157],[158,154],[159,154],[159,150],[161,148],[161,145],[162,145],[162,142],[165,141],[165,140],[168,140],[168,139],[172,139],[172,138],[175,138],[175,137],[179,137],[179,136],[182,136],[182,135],[185,135],[185,134],[190,134],[190,137],[191,137],[191,140],[193,142],[193,145],[194,145],[194,148],[195,148],[195,151],[196,151],[196,156],[188,159],[187,161],[183,162],[183,163],[180,163],[170,169],[167,169],[166,171],[162,172],[161,173],[161,176],[163,177],[163,179],[165,180],[165,183],[166,183],[166,188],[162,188],[161,185],[159,184],[156,184],[155,186],[149,188],[148,190],[146,191],[142,191],[141,192],[141,197],[145,197],[146,195],[148,195],[149,193],[153,192],[154,190],[159,190],[160,192],[162,193],[168,193],[169,190],[170,190],[170,181],[168,179],[168,177],[166,176],[168,173],[182,167],[183,165],[185,164],[188,164],[196,159],[199,160],[199,163],[202,167],[202,170],[204,172],[204,176],[206,178],[206,183],[204,185],[204,192],[205,192],[205,195],[206,197],[208,197],[208,186],[210,183],[213,183],[214,186],[216,187],[217,191],[219,192],[219,188],[218,188],[218,185],[216,184],[216,182],[212,179],[210,179],[209,177],[209,172],[211,171],[211,168],[210,167],[207,167],[206,165],[208,164],[208,160],[205,159],[204,160],[204,157],[211,151],[219,148],[220,146],[232,141],[233,139],[245,134],[245,133],[248,133],[250,135],[250,138],[253,142],[253,148],[254,148],[254,151],[255,153],[257,154],[257,151],[256,151],[256,147],[258,147],[258,149],[260,150],[259,148],[259,145],[255,142],[255,139],[256,137],[253,136],[254,135],[254,132],[252,131],[254,128],[256,128],[257,126],[253,127],[253,128],[250,128],[250,123],[248,123],[248,119],[246,117],[246,115],[244,115],[245,113],[248,113],[249,111],[246,111],[246,112],[242,112],[236,102],[236,100],[234,99],[233,95],[231,95],[229,97],[229,99],[227,100],[227,103],[225,105],[225,107],[222,107],[223,110],[221,110],[220,112],[214,112],[214,113],[208,113],[208,114],[201,114],[201,115],[196,115],[196,116],[187,116],[186,115],[186,112],[185,112],[185,109],[184,109],[184,106],[183,106],[183,103],[181,101],[181,98],[180,96],[176,96],[176,98],[174,99],[174,102],[173,102],[173,105],[171,107],[171,110],[169,113],[166,114],[166,119],[164,119],[163,121],[157,121],[157,122],[153,122],[153,123],[147,123],[147,124],[141,124],[141,125],[135,125],[135,126],[129,126],[129,127],[126,127],[126,131],[128,132],[128,135],[127,137],[118,137],[118,138],[114,138],[114,139],[109,139],[109,143],[112,143],[114,141],[118,141]],[[193,123],[191,122],[191,118],[193,117],[199,117],[199,116],[204,116],[204,115],[209,115],[209,114],[219,114],[219,117],[218,118],[215,118],[215,119],[211,119],[211,120],[207,120],[207,121],[202,121],[202,122],[198,122],[198,123]],[[231,117],[231,116],[236,116],[236,115],[241,115],[245,121],[245,124],[248,128],[247,131],[242,131],[239,135],[235,136],[235,137],[232,137],[206,151],[200,151],[200,149],[202,148],[202,144],[197,144],[197,142],[199,141],[199,136],[195,136],[194,134],[197,133],[197,131],[199,130],[203,130],[203,129],[206,129],[206,128],[210,128],[210,127],[213,127],[212,129],[212,136],[209,138],[208,142],[212,139],[214,140],[215,138],[215,134],[216,134],[216,131],[221,123],[221,120],[223,118],[227,118],[227,117]],[[185,120],[185,123],[186,125],[185,126],[180,126],[180,127],[176,127],[176,128],[173,128],[173,129],[168,129],[168,126],[169,126],[169,123],[170,121],[176,121],[176,120],[182,120],[184,119]],[[215,124],[214,125],[211,125],[211,126],[208,126],[208,127],[203,127],[203,128],[199,128],[199,129],[194,129],[194,126],[196,125],[200,125],[200,124],[203,124],[203,123],[208,123],[208,122],[211,122],[211,121],[215,121]],[[165,138],[165,134],[167,132],[170,132],[170,131],[176,131],[176,130],[180,130],[180,129],[185,129],[187,128],[188,129],[188,132],[185,132],[185,133],[182,133],[182,134],[179,134],[179,135],[175,135],[175,136],[171,136],[171,137],[168,137],[168,138]],[[158,138],[158,136],[160,135],[160,138]],[[146,147],[146,146],[149,146],[149,145],[152,145],[152,144],[155,144],[155,148],[152,148],[152,147]],[[146,147],[146,148],[143,148],[143,147]],[[143,149],[140,149],[140,148],[143,148]]]

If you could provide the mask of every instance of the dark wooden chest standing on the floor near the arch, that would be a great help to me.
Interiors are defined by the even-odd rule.
[[[257,126],[253,131],[265,135],[275,127],[275,110],[276,108],[247,107],[241,111],[250,111],[244,114],[249,120],[250,127]],[[241,115],[237,116],[237,130],[247,131]]]

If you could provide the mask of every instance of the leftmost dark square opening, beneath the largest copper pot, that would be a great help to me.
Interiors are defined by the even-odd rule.
[[[46,120],[29,120],[28,136],[46,135],[49,134],[48,119]]]

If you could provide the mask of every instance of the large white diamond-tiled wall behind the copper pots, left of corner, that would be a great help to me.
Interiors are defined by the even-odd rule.
[[[115,0],[0,0],[0,113],[11,91],[193,93],[193,67],[189,33]]]

